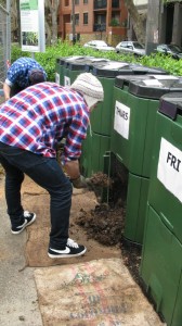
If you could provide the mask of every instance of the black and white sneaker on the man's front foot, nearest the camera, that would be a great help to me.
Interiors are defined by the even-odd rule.
[[[84,254],[87,248],[82,244],[78,244],[72,239],[67,239],[67,243],[65,249],[57,250],[53,248],[49,248],[48,255],[52,259],[56,258],[70,258],[70,256],[78,256]]]

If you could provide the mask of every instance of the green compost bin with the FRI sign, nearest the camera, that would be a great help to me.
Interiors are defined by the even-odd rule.
[[[140,274],[169,326],[182,324],[182,92],[161,97]]]

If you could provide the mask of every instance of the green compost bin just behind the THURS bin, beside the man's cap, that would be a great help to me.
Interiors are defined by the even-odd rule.
[[[112,114],[113,114],[113,89],[114,82],[117,75],[143,75],[143,74],[166,74],[164,70],[150,68],[146,66],[142,66],[139,64],[129,64],[126,62],[118,61],[108,61],[104,62],[89,62],[86,64],[86,70],[95,75],[104,88],[104,101],[100,103],[96,109],[91,113],[91,129],[92,135],[95,139],[98,139],[99,143],[103,146],[100,152],[94,150],[94,146],[92,143],[92,136],[88,133],[88,137],[83,142],[82,147],[82,155],[80,159],[81,168],[84,172],[86,176],[90,176],[91,172],[95,170],[98,172],[105,171],[106,174],[109,173],[109,166],[106,168],[105,160],[107,160],[107,155],[104,159],[101,159],[101,153],[110,151],[110,133],[112,133]],[[93,158],[92,163],[91,159]],[[100,164],[98,165],[98,162]],[[104,170],[105,166],[105,170]],[[87,173],[88,172],[88,173]]]

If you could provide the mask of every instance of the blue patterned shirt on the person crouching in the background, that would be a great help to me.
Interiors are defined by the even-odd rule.
[[[26,88],[29,86],[28,74],[34,68],[41,70],[47,77],[42,66],[36,60],[30,58],[20,58],[9,67],[5,83],[10,87],[16,84],[22,89]]]

